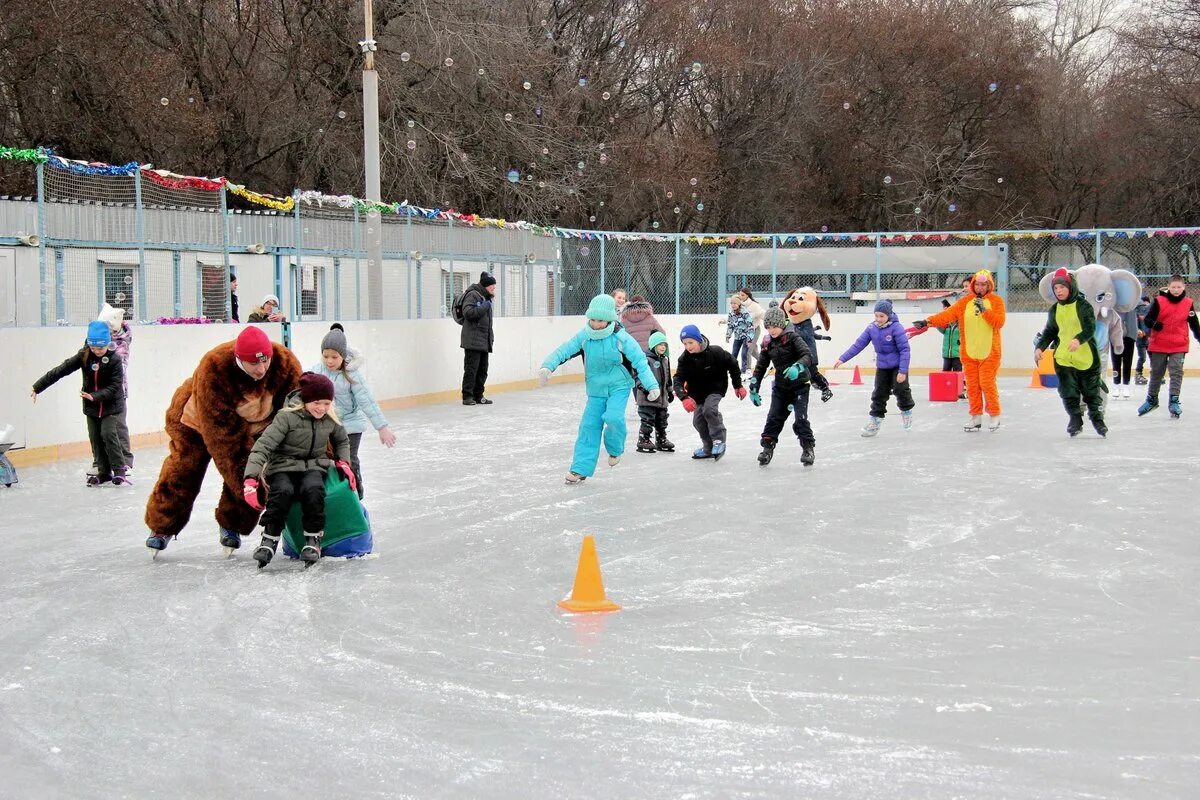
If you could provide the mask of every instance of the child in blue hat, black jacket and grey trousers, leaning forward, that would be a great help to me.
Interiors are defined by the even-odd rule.
[[[745,398],[742,369],[732,355],[709,344],[695,325],[685,325],[679,341],[686,353],[679,356],[676,366],[674,390],[683,401],[683,409],[691,413],[691,423],[703,443],[691,457],[720,461],[725,455],[725,419],[720,403],[730,391],[731,380],[738,399]]]

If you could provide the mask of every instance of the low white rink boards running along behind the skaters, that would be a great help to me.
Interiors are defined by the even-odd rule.
[[[248,313],[244,309],[242,313]],[[916,319],[901,314],[905,324]],[[710,341],[725,343],[725,329],[716,314],[658,314],[671,341],[672,360],[678,357],[679,329],[697,324]],[[834,314],[832,342],[818,342],[821,363],[830,366],[869,323],[870,315]],[[1033,337],[1045,321],[1043,313],[1009,314],[1004,327],[1004,361],[1008,369],[1031,369]],[[366,354],[366,375],[382,402],[456,391],[462,380],[458,326],[449,319],[382,320],[346,323],[350,345]],[[535,378],[541,360],[583,325],[581,317],[521,317],[496,320],[496,353],[488,385],[500,386]],[[275,341],[280,326],[260,325]],[[175,389],[196,368],[210,348],[233,339],[240,325],[136,326],[130,372],[131,434],[162,431],[163,416]],[[320,355],[320,339],[329,323],[292,325],[292,345],[308,367]],[[86,431],[78,397],[79,377],[72,375],[38,396],[29,393],[34,381],[83,344],[83,327],[5,327],[0,347],[5,353],[0,371],[0,428],[14,427],[18,447],[44,447],[84,441]],[[930,331],[912,342],[914,369],[941,368],[942,336]],[[862,353],[851,366],[874,366],[874,351]],[[576,360],[556,374],[578,374]]]

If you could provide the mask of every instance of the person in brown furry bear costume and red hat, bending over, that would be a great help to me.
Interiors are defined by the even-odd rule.
[[[146,547],[161,551],[192,516],[209,461],[221,473],[216,518],[221,545],[241,546],[258,511],[242,501],[242,473],[258,435],[300,385],[300,361],[260,329],[209,350],[192,377],[175,390],[167,409],[170,451],[146,503]]]

